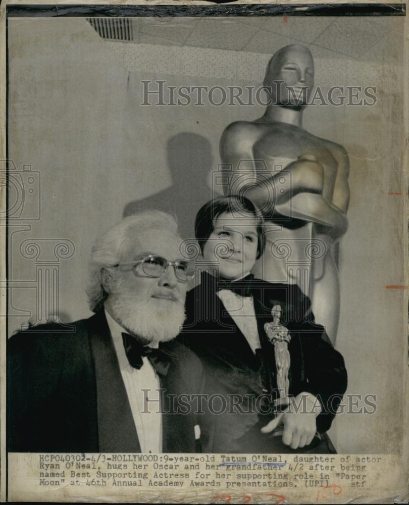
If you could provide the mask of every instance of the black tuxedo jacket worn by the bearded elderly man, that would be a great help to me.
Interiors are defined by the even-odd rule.
[[[8,450],[140,452],[104,311],[73,327],[67,333],[62,325],[37,326],[9,340]],[[160,348],[170,357],[167,375],[160,376],[163,408],[175,412],[165,405],[167,395],[197,394],[201,365],[177,341]],[[164,452],[196,451],[193,410],[162,419]]]

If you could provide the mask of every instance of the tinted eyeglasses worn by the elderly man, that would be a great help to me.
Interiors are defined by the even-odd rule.
[[[162,256],[148,255],[141,260],[118,263],[118,265],[115,266],[119,267],[126,265],[132,266],[134,275],[138,275],[140,273],[139,265],[141,265],[142,272],[149,277],[161,277],[161,275],[166,272],[168,266],[172,266],[174,268],[175,276],[181,282],[187,282],[189,278],[194,276],[193,266],[188,261],[169,261],[166,258],[162,258]]]

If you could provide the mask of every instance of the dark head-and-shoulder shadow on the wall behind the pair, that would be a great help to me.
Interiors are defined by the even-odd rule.
[[[211,198],[209,174],[213,156],[209,140],[196,133],[182,132],[167,142],[172,186],[141,200],[129,202],[123,217],[148,209],[176,216],[182,238],[194,238],[194,218]]]

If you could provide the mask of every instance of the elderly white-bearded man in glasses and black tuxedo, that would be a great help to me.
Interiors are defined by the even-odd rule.
[[[201,365],[173,340],[191,276],[179,246],[167,214],[124,219],[92,248],[87,294],[95,314],[71,332],[42,325],[10,339],[10,451],[198,448],[197,409],[186,398],[200,391]]]

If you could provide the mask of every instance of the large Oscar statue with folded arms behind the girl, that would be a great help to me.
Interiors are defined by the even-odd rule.
[[[270,60],[265,114],[223,132],[225,193],[250,198],[267,219],[266,252],[254,274],[297,283],[335,341],[339,319],[337,242],[347,229],[349,162],[341,145],[302,128],[314,86],[308,48],[288,45]]]

